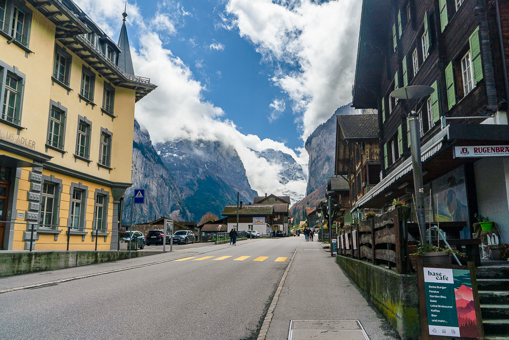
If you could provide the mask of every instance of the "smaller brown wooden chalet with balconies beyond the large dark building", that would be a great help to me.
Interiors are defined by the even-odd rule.
[[[343,206],[353,208],[344,220],[346,224],[351,223],[352,216],[362,218],[355,203],[380,182],[378,126],[378,114],[337,116],[334,172],[343,181],[330,177],[327,190],[336,191],[334,195],[341,197]],[[345,186],[350,189],[348,195],[344,193]],[[345,197],[349,197],[348,203]]]

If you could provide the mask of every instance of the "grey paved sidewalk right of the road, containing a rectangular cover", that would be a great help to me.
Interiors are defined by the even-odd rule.
[[[304,240],[303,237],[301,239]],[[359,320],[371,340],[399,339],[390,324],[335,263],[335,257],[323,250],[322,244],[316,239],[315,242],[303,241],[297,249],[265,339],[288,339],[291,320]],[[355,329],[345,327],[346,324],[336,323],[335,329]],[[292,339],[358,338],[348,332],[318,332],[318,337],[309,332],[303,336],[304,332],[301,332],[301,336]],[[357,332],[364,337],[360,330]]]

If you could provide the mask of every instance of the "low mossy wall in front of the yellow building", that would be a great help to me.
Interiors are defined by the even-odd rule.
[[[131,251],[131,258],[162,251]],[[92,265],[129,258],[128,251],[34,251],[0,253],[0,277]]]

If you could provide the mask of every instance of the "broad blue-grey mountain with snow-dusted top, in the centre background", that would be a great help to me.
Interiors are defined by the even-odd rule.
[[[179,140],[157,143],[162,162],[175,177],[194,221],[208,212],[221,216],[224,205],[252,202],[251,189],[237,151],[219,141]]]

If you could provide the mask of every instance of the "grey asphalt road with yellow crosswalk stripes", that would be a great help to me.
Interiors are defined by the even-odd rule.
[[[5,289],[193,257],[0,294],[0,338],[246,339],[256,333],[300,239],[191,244],[172,253],[1,278]]]

